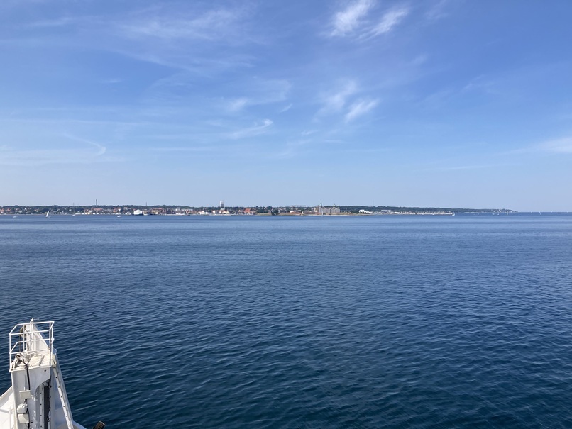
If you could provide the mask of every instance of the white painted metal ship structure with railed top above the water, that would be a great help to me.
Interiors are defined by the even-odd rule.
[[[31,320],[11,330],[12,386],[0,396],[0,429],[85,429],[72,418],[53,326]]]

